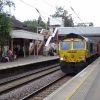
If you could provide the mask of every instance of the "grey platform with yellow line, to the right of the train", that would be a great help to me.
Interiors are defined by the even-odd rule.
[[[100,57],[44,100],[100,100]]]

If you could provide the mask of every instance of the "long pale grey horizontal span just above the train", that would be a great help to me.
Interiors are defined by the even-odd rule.
[[[76,33],[84,36],[100,36],[100,27],[59,27],[58,35],[66,35],[69,33]]]

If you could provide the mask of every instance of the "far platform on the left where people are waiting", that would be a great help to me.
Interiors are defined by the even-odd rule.
[[[18,58],[17,60],[13,62],[6,62],[6,63],[0,63],[0,70],[8,69],[8,68],[14,68],[14,67],[20,67],[28,64],[34,64],[39,63],[43,61],[49,61],[59,58],[58,56],[28,56],[25,58]]]

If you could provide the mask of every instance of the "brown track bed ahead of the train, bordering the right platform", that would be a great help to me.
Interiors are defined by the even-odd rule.
[[[66,83],[72,77],[73,76],[64,76],[64,77],[58,79],[57,81],[55,81],[54,83],[43,88],[42,90],[38,91],[37,93],[27,96],[23,100],[43,100],[45,97],[50,95],[52,92],[54,92],[56,89],[58,89],[64,83]]]

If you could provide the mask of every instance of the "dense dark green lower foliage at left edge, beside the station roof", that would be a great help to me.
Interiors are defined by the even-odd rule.
[[[7,14],[0,13],[0,46],[3,47],[10,38],[12,30],[11,19]]]

